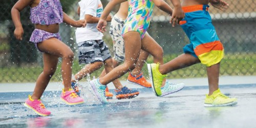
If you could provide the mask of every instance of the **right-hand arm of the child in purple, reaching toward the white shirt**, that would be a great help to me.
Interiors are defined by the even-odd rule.
[[[86,20],[74,20],[63,12],[63,22],[73,27],[86,27]]]

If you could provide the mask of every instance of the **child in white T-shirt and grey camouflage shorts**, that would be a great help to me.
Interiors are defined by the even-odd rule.
[[[72,84],[77,84],[76,81],[86,77],[104,64],[106,72],[113,69],[112,57],[108,46],[102,40],[103,34],[97,30],[97,23],[103,11],[100,0],[82,0],[79,2],[80,19],[87,20],[85,28],[77,28],[76,41],[78,45],[78,60],[79,64],[88,64],[75,74],[75,79],[72,79]],[[111,16],[106,18],[107,22],[111,22]],[[139,91],[131,90],[123,87],[118,79],[113,81],[116,88],[116,98],[134,98],[139,95]],[[105,90],[103,86],[101,90]],[[105,95],[105,94],[104,94]]]

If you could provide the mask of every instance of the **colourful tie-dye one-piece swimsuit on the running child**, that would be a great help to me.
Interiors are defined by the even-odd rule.
[[[122,29],[122,35],[130,31],[137,31],[142,39],[150,26],[154,3],[152,0],[129,0],[128,2],[128,16]]]

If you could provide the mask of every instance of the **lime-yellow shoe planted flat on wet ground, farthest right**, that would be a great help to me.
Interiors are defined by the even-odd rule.
[[[222,94],[220,89],[214,91],[212,95],[208,96],[204,100],[204,106],[230,106],[236,105],[237,98],[229,98],[226,95]]]

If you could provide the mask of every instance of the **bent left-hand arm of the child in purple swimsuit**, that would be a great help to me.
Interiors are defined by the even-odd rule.
[[[33,3],[33,0],[19,0],[11,10],[11,15],[12,15],[12,21],[15,26],[14,30],[14,36],[18,40],[22,40],[23,37],[23,27],[22,23],[20,22],[20,15],[19,12],[22,11],[25,7],[31,5]]]

